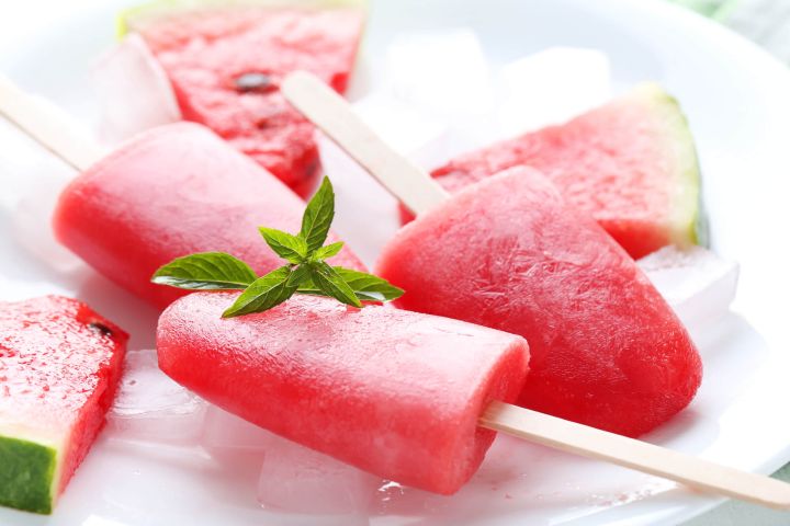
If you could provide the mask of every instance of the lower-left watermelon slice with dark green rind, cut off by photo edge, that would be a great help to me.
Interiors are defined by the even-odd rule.
[[[52,513],[112,403],[127,335],[75,299],[0,304],[0,505]]]

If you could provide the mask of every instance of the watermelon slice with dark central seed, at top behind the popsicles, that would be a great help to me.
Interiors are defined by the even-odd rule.
[[[314,127],[279,84],[303,69],[342,93],[365,19],[361,2],[311,3],[156,2],[126,13],[122,26],[161,64],[183,118],[208,126],[303,196],[318,169]]]

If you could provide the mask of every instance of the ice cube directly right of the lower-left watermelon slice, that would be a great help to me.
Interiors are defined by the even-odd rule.
[[[156,351],[131,351],[108,413],[108,430],[119,438],[196,445],[205,410],[201,398],[159,369]]]

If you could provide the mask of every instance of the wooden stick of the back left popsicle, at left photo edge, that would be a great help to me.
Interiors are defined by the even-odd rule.
[[[77,171],[104,157],[84,128],[56,105],[0,76],[0,115]]]

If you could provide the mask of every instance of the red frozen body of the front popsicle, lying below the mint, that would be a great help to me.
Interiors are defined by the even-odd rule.
[[[494,432],[492,400],[527,375],[520,336],[382,306],[294,296],[222,318],[234,293],[195,293],[161,315],[159,366],[202,398],[382,478],[453,493]]]

